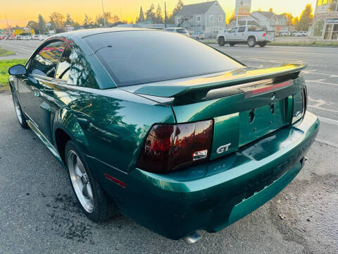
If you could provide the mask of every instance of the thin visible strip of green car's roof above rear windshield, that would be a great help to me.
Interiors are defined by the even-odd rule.
[[[145,28],[92,28],[92,29],[82,29],[75,30],[71,32],[63,32],[61,34],[57,34],[57,37],[70,37],[71,35],[76,35],[77,37],[87,37],[90,35],[98,35],[105,32],[128,32],[128,31],[139,31],[139,30],[151,30],[154,29],[145,29]]]

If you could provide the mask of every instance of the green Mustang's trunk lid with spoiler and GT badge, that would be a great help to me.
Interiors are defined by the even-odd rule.
[[[303,65],[244,68],[220,75],[122,87],[173,108],[177,123],[213,119],[211,159],[237,151],[292,121]]]

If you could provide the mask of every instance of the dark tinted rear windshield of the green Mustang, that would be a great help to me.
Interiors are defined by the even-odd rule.
[[[106,32],[84,37],[118,86],[188,78],[242,64],[186,36],[162,31]]]

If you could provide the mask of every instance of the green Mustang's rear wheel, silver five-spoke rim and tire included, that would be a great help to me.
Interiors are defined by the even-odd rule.
[[[80,148],[72,140],[65,145],[65,164],[77,201],[88,219],[101,222],[117,213],[110,198],[92,176]]]

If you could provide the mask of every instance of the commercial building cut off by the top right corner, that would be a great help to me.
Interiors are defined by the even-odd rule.
[[[313,36],[323,40],[338,40],[338,0],[317,0]]]

